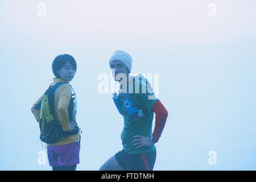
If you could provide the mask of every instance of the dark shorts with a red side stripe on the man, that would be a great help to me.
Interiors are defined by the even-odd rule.
[[[146,154],[128,154],[124,150],[115,154],[115,160],[128,171],[152,171],[155,165],[156,151]]]

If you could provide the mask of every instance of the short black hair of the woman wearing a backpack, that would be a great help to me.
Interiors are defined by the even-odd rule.
[[[57,71],[63,68],[67,62],[69,62],[73,66],[73,68],[75,68],[76,71],[76,60],[73,56],[64,54],[55,57],[55,59],[52,62],[52,72],[56,78],[61,78]]]

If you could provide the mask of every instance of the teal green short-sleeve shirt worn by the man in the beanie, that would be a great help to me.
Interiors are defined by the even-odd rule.
[[[123,114],[124,126],[121,134],[121,139],[123,150],[125,150],[128,154],[143,154],[156,150],[155,144],[149,147],[136,148],[136,146],[133,146],[132,142],[135,139],[133,138],[135,135],[141,135],[144,137],[151,136],[152,121],[154,118],[154,112],[152,111],[152,107],[154,106],[155,102],[158,101],[158,98],[156,98],[155,94],[153,92],[150,92],[149,89],[147,89],[146,93],[143,93],[141,89],[142,86],[147,86],[146,82],[140,81],[139,93],[131,94],[131,100],[133,101],[133,104],[139,106],[144,111],[144,118],[138,121],[133,121],[133,119],[130,118],[129,114],[125,110],[125,107],[123,106],[123,100],[125,100],[125,98],[119,96],[119,104],[121,106],[122,112],[125,113]],[[148,96],[150,96],[150,99],[148,99]]]

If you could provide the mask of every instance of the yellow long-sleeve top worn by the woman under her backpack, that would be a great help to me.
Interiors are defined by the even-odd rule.
[[[57,82],[68,82],[61,78],[53,78],[52,85],[55,85]],[[68,131],[69,130],[69,119],[68,119],[68,105],[71,100],[71,94],[72,94],[72,88],[68,84],[63,84],[57,89],[57,91],[54,94],[54,110],[55,110],[55,119],[57,121],[60,121],[63,130]],[[44,94],[38,99],[38,101],[35,102],[35,104],[32,106],[31,111],[34,114],[36,121],[40,122],[40,109],[35,110],[35,106],[39,104],[40,101],[42,101]],[[74,101],[75,104],[75,101]],[[75,113],[75,107],[73,108],[73,115]],[[76,122],[76,117],[73,117],[73,121]],[[47,146],[59,146],[61,144],[68,144],[79,141],[79,133],[75,135],[71,135],[69,137],[65,137],[61,140],[59,140],[56,143],[47,144]]]

